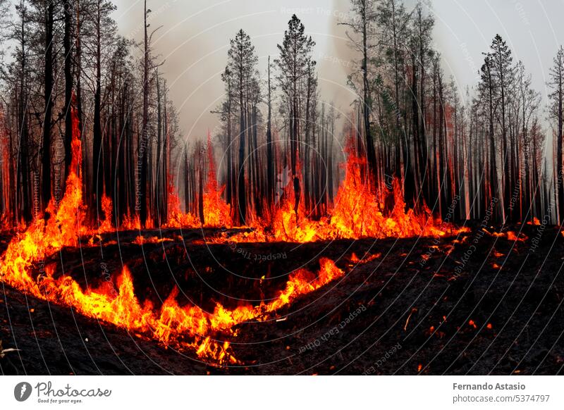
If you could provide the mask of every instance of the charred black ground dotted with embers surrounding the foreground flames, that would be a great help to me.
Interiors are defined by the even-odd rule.
[[[494,231],[504,235],[494,235]],[[505,232],[521,232],[519,240]],[[233,230],[152,230],[104,235],[47,263],[80,285],[116,279],[159,304],[177,285],[180,304],[213,309],[276,297],[297,268],[332,259],[345,276],[231,342],[243,365],[217,367],[72,309],[3,285],[0,340],[17,348],[4,374],[560,374],[564,366],[564,237],[556,228],[474,224],[436,238],[308,244],[211,243]],[[135,237],[165,237],[133,243]],[[205,238],[205,240],[204,240]],[[0,237],[4,251],[9,238]],[[211,241],[211,242],[210,242]],[[362,259],[357,263],[353,253]],[[264,278],[263,278],[264,277]]]

